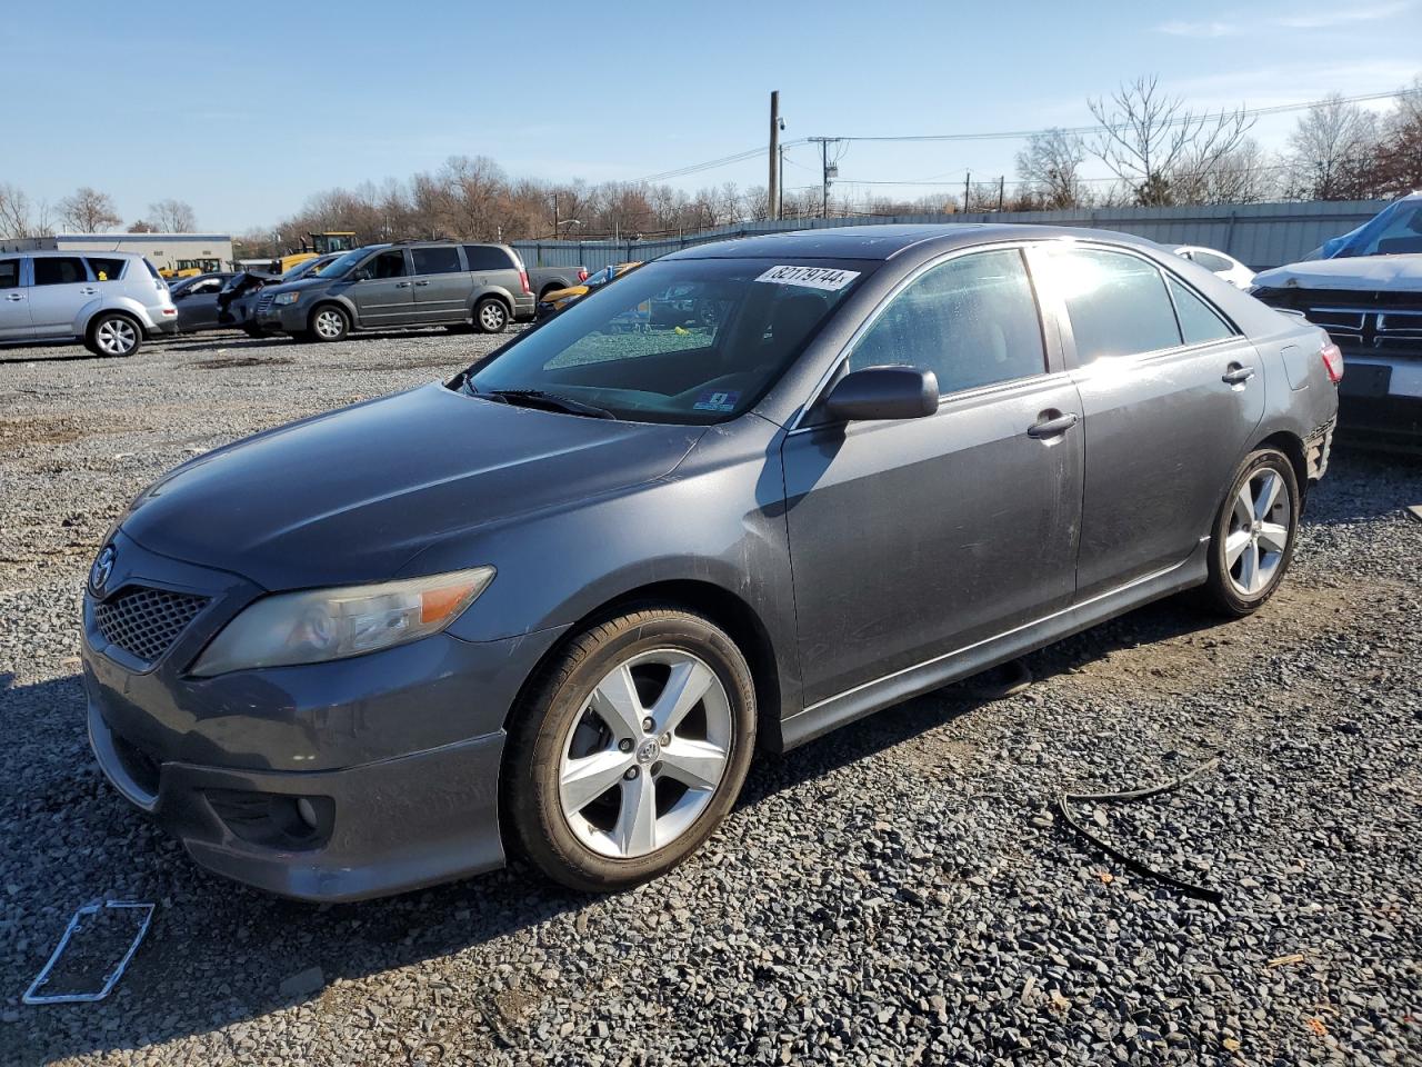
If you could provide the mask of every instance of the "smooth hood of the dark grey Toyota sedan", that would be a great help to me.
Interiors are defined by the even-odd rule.
[[[267,589],[378,582],[449,536],[660,478],[704,432],[435,383],[192,460],[145,491],[122,529]]]

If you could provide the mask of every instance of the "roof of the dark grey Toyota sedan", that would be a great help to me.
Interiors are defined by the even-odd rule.
[[[816,229],[782,230],[749,238],[734,238],[708,245],[695,245],[673,252],[665,259],[892,259],[909,248],[933,245],[947,250],[995,240],[1048,240],[1076,238],[1105,240],[1138,248],[1159,248],[1155,242],[1116,230],[1086,229],[1084,226],[1039,226],[1008,222],[948,222],[906,225],[826,226]]]

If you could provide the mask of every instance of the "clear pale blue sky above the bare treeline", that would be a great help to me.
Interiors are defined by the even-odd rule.
[[[1089,124],[1089,97],[1156,74],[1200,108],[1386,92],[1422,74],[1422,0],[566,4],[344,0],[7,4],[0,182],[81,185],[125,222],[191,203],[209,232],[267,226],[334,186],[451,155],[508,174],[636,181],[784,137]],[[1379,105],[1381,107],[1381,105]],[[1260,120],[1281,147],[1295,115]],[[1021,142],[850,142],[845,182],[919,196],[1012,178]],[[788,188],[819,181],[813,145]],[[755,159],[677,178],[764,185]],[[936,184],[937,185],[936,185]]]

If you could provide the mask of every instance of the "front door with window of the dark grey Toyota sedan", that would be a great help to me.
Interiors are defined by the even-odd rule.
[[[936,415],[792,431],[785,492],[805,703],[1069,603],[1081,404],[1017,248],[956,255],[882,309],[849,368],[933,370]],[[1069,424],[1045,435],[1032,427]],[[1037,435],[1034,435],[1037,434]]]

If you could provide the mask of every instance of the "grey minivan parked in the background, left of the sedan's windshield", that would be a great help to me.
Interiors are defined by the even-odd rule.
[[[508,245],[411,240],[347,252],[316,277],[270,286],[256,329],[338,341],[351,330],[472,324],[501,333],[533,317],[528,272]]]

